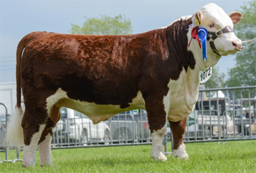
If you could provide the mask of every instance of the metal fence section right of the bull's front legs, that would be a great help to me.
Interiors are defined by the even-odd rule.
[[[255,94],[256,86],[200,90],[185,142],[256,139]]]

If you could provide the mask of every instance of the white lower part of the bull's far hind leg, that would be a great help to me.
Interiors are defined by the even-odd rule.
[[[52,137],[51,137],[50,133],[48,133],[48,135],[46,135],[46,139],[43,140],[38,145],[41,166],[53,164],[52,158],[51,158],[51,153],[50,153],[51,138]]]

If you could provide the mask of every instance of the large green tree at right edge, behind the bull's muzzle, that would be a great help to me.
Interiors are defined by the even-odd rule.
[[[236,35],[241,40],[256,38],[256,1],[247,2],[241,6],[240,11],[243,17],[234,28]],[[253,43],[238,52],[235,61],[236,66],[228,72],[229,78],[226,82],[228,86],[256,85],[256,44]],[[252,90],[251,96],[255,94],[256,91]]]

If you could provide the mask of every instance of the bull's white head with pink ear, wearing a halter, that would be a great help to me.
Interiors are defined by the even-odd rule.
[[[203,60],[202,49],[196,40],[193,40],[188,50],[193,52],[196,63],[200,70],[215,65],[221,56],[233,55],[242,50],[242,42],[233,33],[233,25],[242,18],[242,13],[225,13],[223,9],[215,4],[207,4],[197,11],[192,18],[192,25],[188,31],[188,41],[191,40],[193,28],[205,28],[208,32],[206,38],[207,60]]]

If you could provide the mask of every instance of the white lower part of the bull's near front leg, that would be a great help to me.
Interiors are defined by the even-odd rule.
[[[154,131],[152,133],[152,155],[151,158],[154,160],[162,160],[166,161],[167,157],[164,155],[164,147],[163,147],[163,136],[166,134],[166,125],[164,128],[160,130]]]

